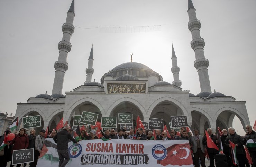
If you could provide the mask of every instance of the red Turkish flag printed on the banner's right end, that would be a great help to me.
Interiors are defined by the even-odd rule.
[[[193,160],[189,148],[189,143],[174,144],[167,149],[167,156],[163,160],[158,160],[157,164],[166,165],[193,165]]]

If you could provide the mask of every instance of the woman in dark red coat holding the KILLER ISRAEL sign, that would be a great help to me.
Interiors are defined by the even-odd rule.
[[[19,133],[17,135],[15,135],[14,139],[11,140],[10,143],[8,143],[7,145],[13,145],[12,151],[13,150],[21,150],[21,149],[27,149],[28,148],[28,144],[29,144],[29,140],[28,140],[28,135],[26,134],[26,129],[21,128]],[[11,153],[12,153],[11,151]],[[13,167],[14,165],[10,165],[10,167]],[[17,164],[17,167],[20,167],[21,164]]]

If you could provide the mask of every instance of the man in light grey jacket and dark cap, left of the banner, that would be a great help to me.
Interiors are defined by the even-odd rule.
[[[40,154],[42,153],[42,148],[43,145],[45,143],[45,130],[42,129],[40,130],[40,134],[36,136],[36,140],[35,140],[35,159],[34,162],[37,161],[37,159],[39,158]]]

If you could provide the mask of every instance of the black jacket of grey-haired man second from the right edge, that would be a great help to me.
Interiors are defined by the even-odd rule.
[[[229,141],[232,141],[234,144],[237,144],[238,146],[236,147],[236,153],[237,154],[245,154],[245,152],[243,151],[243,139],[241,138],[240,135],[237,135],[237,134],[232,134],[232,135],[229,135],[226,140],[225,140],[225,145],[227,147],[229,147]],[[230,148],[230,147],[229,147]],[[230,150],[231,151],[231,150]]]

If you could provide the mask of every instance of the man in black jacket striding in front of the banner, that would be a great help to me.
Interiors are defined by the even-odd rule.
[[[77,144],[76,140],[73,137],[71,137],[71,135],[68,133],[68,130],[69,126],[66,125],[64,129],[58,132],[56,136],[53,138],[54,142],[57,143],[57,151],[60,160],[59,167],[64,167],[70,159],[67,150],[68,140],[71,140]]]

